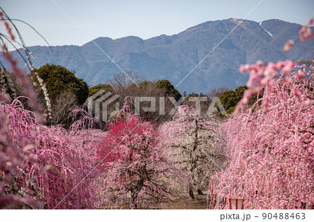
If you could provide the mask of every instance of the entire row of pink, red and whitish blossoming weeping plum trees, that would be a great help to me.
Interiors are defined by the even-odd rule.
[[[179,106],[158,126],[126,104],[107,131],[94,129],[99,122],[82,109],[73,110],[66,130],[43,125],[52,111],[47,88],[36,72],[29,79],[18,67],[3,41],[15,41],[13,23],[4,12],[0,20],[8,31],[0,36],[3,57],[26,96],[12,102],[0,93],[0,208],[154,208],[187,194],[194,198],[213,179],[218,209],[227,207],[228,197],[245,198],[251,209],[314,208],[312,64],[298,70],[292,61],[242,66],[251,72],[248,90],[223,125]],[[302,27],[300,35],[311,38],[311,29]],[[24,52],[31,71],[31,54]],[[1,83],[10,86],[13,80],[0,68]],[[39,91],[44,109],[36,101]]]

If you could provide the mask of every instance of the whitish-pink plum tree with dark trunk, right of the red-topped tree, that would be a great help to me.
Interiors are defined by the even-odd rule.
[[[172,120],[159,130],[168,157],[188,178],[190,198],[194,198],[195,190],[202,194],[210,176],[220,171],[225,161],[225,141],[219,122],[208,116],[200,118],[193,107],[179,106]]]

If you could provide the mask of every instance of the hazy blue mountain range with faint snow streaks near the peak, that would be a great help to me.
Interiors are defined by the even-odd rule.
[[[105,84],[121,72],[110,58],[123,70],[138,72],[148,80],[168,79],[174,86],[188,74],[177,86],[181,93],[207,93],[213,88],[244,85],[248,74],[239,72],[241,64],[313,58],[314,38],[300,41],[300,24],[279,19],[241,20],[204,22],[176,35],[159,35],[147,40],[135,36],[115,40],[100,37],[82,46],[54,46],[53,52],[45,46],[33,46],[29,50],[36,56],[33,60],[36,68],[46,63],[63,65],[74,70],[89,86]],[[296,43],[285,53],[283,46],[290,39]]]

